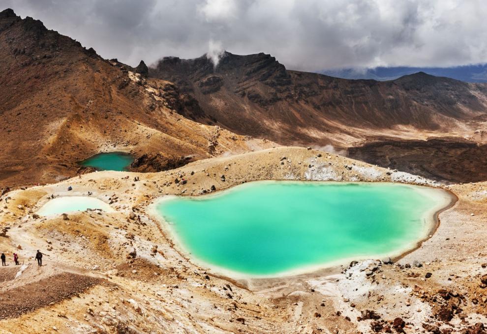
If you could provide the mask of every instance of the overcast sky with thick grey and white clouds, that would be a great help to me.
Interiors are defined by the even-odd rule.
[[[486,0],[0,0],[130,65],[215,47],[289,69],[487,62]],[[2,9],[4,9],[2,8]]]

